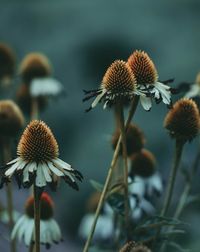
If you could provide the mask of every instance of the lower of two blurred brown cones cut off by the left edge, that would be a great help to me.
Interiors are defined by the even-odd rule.
[[[20,108],[11,100],[0,101],[0,137],[16,137],[24,126]]]

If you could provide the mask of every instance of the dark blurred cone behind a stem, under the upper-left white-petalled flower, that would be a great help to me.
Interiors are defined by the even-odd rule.
[[[32,106],[32,98],[30,95],[29,86],[21,84],[16,93],[16,102],[24,113],[30,114]],[[44,110],[48,104],[48,99],[45,96],[37,97],[39,111]]]

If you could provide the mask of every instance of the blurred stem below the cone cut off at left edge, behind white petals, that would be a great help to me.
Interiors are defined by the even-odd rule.
[[[7,140],[3,144],[3,162],[6,164],[11,160],[11,142]],[[6,195],[7,195],[7,211],[9,218],[9,229],[10,233],[12,232],[14,226],[13,220],[13,193],[12,193],[12,183],[9,183],[6,187]],[[10,250],[12,252],[16,252],[16,240],[12,240],[10,242]]]

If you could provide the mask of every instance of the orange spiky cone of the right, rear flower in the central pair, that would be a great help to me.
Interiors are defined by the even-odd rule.
[[[137,84],[154,84],[158,80],[158,73],[149,55],[136,50],[128,58],[128,64],[135,75]]]

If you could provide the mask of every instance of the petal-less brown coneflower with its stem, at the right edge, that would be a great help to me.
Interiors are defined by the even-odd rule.
[[[176,173],[181,160],[183,146],[186,142],[192,141],[200,130],[200,117],[197,105],[190,99],[183,98],[177,101],[168,112],[164,127],[169,131],[170,136],[176,140],[174,164],[170,172],[166,197],[161,211],[165,215],[171,203]]]

